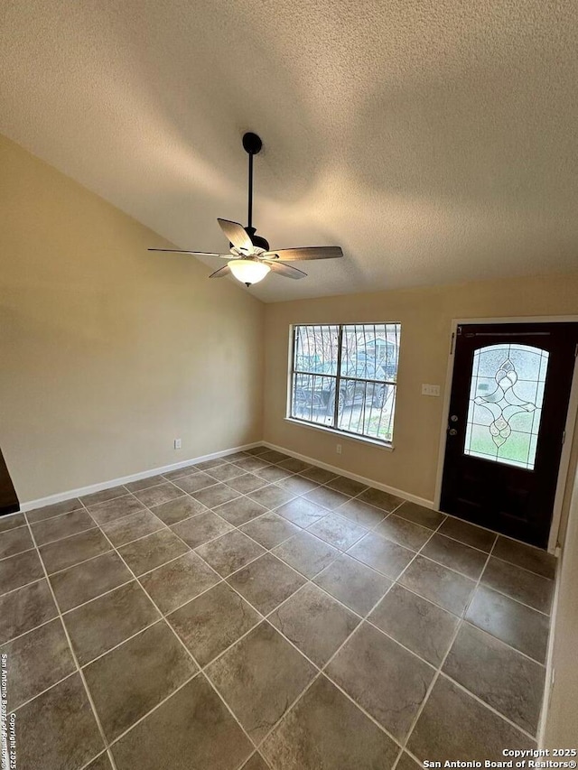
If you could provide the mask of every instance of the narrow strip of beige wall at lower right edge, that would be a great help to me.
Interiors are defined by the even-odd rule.
[[[552,664],[555,682],[546,712],[545,748],[578,748],[578,475],[574,480],[572,503],[555,610]],[[555,757],[554,757],[555,758]],[[575,759],[575,757],[571,757]]]

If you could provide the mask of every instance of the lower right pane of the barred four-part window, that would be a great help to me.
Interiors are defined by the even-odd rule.
[[[391,441],[395,404],[396,385],[341,380],[338,428],[378,441]]]

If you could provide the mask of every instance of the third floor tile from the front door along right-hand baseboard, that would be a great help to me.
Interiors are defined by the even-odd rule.
[[[544,663],[548,644],[549,619],[513,598],[480,586],[471,601],[466,618],[474,626]]]

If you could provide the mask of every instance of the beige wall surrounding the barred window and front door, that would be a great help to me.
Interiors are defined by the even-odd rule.
[[[431,501],[452,319],[564,314],[578,315],[578,273],[267,305],[265,440]],[[356,321],[401,321],[393,452],[284,421],[290,324]]]

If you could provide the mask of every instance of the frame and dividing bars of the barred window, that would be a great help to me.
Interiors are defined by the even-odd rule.
[[[288,356],[288,366],[287,366],[287,402],[286,402],[286,413],[285,413],[285,421],[287,422],[293,422],[294,424],[301,425],[305,428],[312,428],[316,431],[323,431],[326,433],[333,433],[337,436],[340,436],[344,439],[352,439],[354,441],[362,441],[363,443],[372,444],[376,447],[379,447],[381,449],[385,450],[393,450],[393,437],[394,437],[394,429],[395,429],[395,418],[396,418],[396,412],[395,412],[395,406],[394,406],[394,413],[392,415],[391,420],[391,441],[385,441],[383,439],[378,439],[375,436],[368,436],[365,433],[357,433],[354,431],[347,431],[343,428],[338,427],[338,415],[339,415],[339,394],[340,394],[340,380],[343,379],[350,379],[350,377],[342,377],[340,372],[341,367],[341,341],[343,336],[343,329],[346,326],[397,326],[399,328],[400,338],[401,338],[401,323],[400,321],[351,321],[348,323],[295,323],[291,324],[289,327],[289,356]],[[327,377],[332,377],[335,379],[335,404],[334,404],[334,411],[333,411],[333,422],[331,425],[324,425],[322,422],[312,422],[309,420],[303,420],[300,417],[294,417],[292,415],[293,411],[293,382],[294,382],[294,375],[302,374],[302,375],[311,375],[315,373],[310,372],[299,372],[294,370],[294,360],[295,360],[295,339],[296,339],[296,330],[303,326],[312,326],[312,327],[337,327],[339,339],[337,344],[337,372],[335,375],[323,375]],[[399,367],[399,362],[398,362]],[[357,379],[357,378],[356,378]],[[390,385],[395,388],[394,393],[394,404],[396,404],[396,396],[397,396],[397,372],[396,372],[396,380],[366,380],[359,378],[360,383],[374,383],[374,384],[385,384]]]

